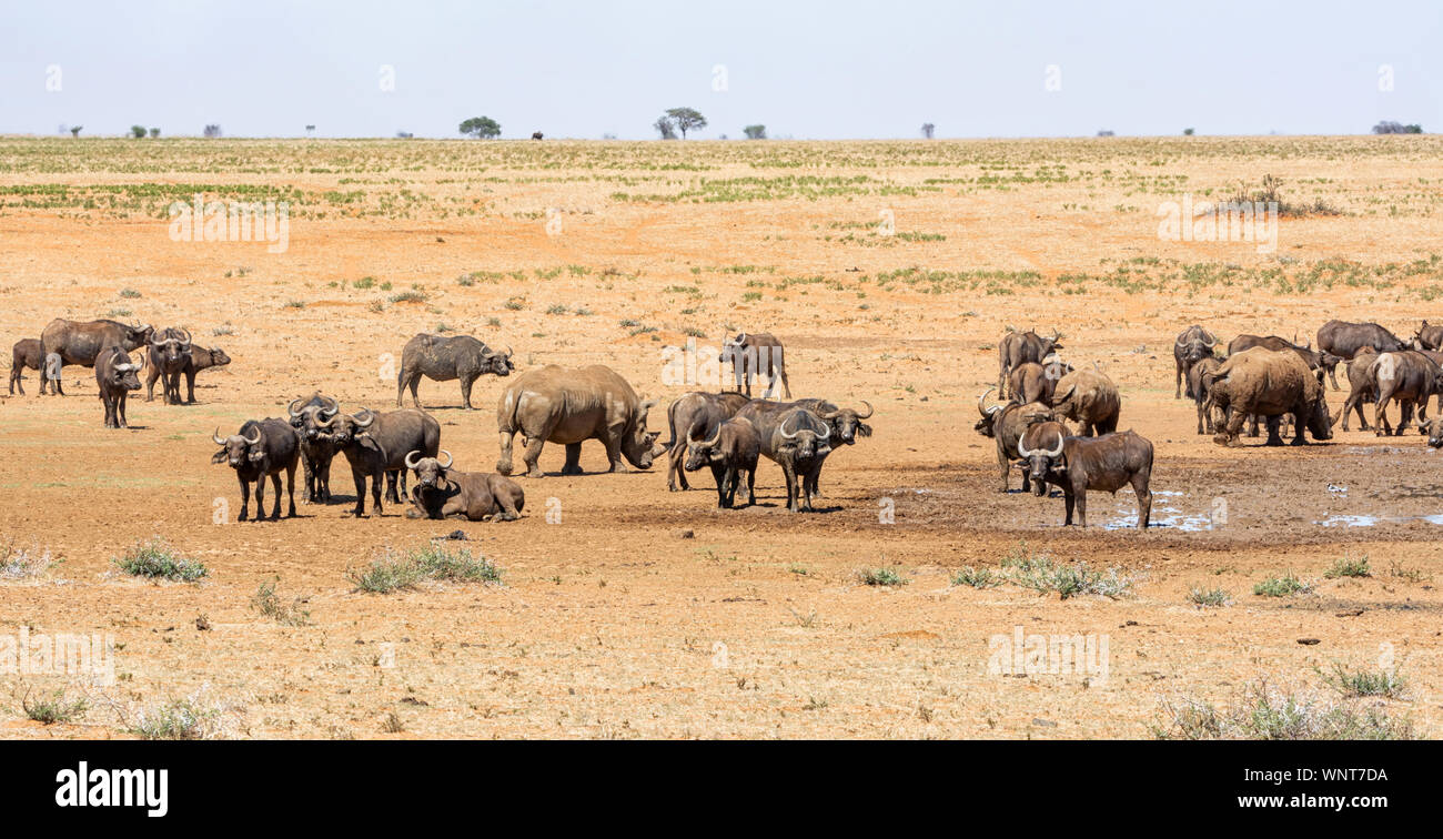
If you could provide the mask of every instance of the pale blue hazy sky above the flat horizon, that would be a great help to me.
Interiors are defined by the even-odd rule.
[[[700,137],[1443,127],[1439,0],[0,3],[0,133],[456,137],[485,114],[505,137],[651,138],[677,105]]]

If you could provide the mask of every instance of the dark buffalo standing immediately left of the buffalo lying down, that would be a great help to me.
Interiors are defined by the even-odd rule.
[[[381,477],[385,477],[385,500],[401,503],[405,496],[405,457],[420,451],[436,457],[440,451],[442,424],[434,417],[414,408],[377,414],[362,408],[355,414],[336,414],[319,422],[330,435],[336,451],[351,463],[351,479],[356,487],[356,518],[365,515],[365,479],[371,479],[371,500],[375,515],[381,510]],[[397,493],[400,484],[400,494]]]

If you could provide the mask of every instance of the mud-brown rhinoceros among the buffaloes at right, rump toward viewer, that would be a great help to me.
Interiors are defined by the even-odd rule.
[[[1283,445],[1278,421],[1284,414],[1291,414],[1296,422],[1293,445],[1306,445],[1304,430],[1313,440],[1332,438],[1320,376],[1291,350],[1253,347],[1229,355],[1216,373],[1208,376],[1208,389],[1214,404],[1228,417],[1227,427],[1214,437],[1221,445],[1237,445],[1250,415],[1267,418],[1268,445]]]

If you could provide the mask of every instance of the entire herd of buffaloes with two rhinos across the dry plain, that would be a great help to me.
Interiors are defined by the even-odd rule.
[[[997,386],[977,401],[981,415],[975,431],[997,447],[1000,490],[1009,490],[1013,466],[1022,473],[1022,490],[1045,496],[1049,486],[1062,490],[1065,525],[1074,518],[1087,526],[1087,493],[1115,493],[1131,486],[1137,496],[1139,528],[1147,528],[1152,492],[1153,444],[1137,432],[1118,431],[1121,395],[1113,379],[1094,363],[1075,369],[1058,350],[1062,336],[1043,337],[1035,330],[1009,330],[999,343]],[[1186,394],[1198,412],[1198,434],[1214,434],[1222,445],[1237,445],[1267,428],[1267,445],[1291,444],[1306,437],[1329,440],[1332,427],[1356,412],[1368,430],[1364,405],[1374,405],[1377,434],[1403,434],[1410,425],[1443,447],[1443,326],[1423,321],[1408,340],[1400,340],[1375,323],[1330,320],[1317,330],[1317,346],[1278,336],[1240,334],[1224,343],[1215,332],[1189,326],[1173,342],[1175,396]],[[141,349],[139,359],[131,352]],[[778,385],[791,399],[782,343],[769,333],[737,333],[723,342],[722,359],[730,360],[736,391],[685,394],[667,409],[670,438],[648,430],[655,399],[644,399],[620,375],[603,365],[563,368],[547,365],[517,376],[512,352],[496,352],[472,336],[417,334],[405,343],[397,373],[397,409],[361,407],[343,411],[320,392],[293,399],[286,418],[251,420],[231,435],[212,434],[219,447],[212,461],[229,464],[241,484],[241,515],[250,518],[251,484],[255,519],[264,518],[264,487],[270,480],[276,500],[270,519],[280,518],[281,473],[286,474],[287,512],[296,515],[296,471],[302,470],[302,500],[329,503],[330,466],[338,454],[351,467],[355,516],[367,515],[367,490],[377,515],[384,503],[410,502],[408,518],[515,520],[525,506],[524,492],[509,479],[515,471],[512,447],[521,434],[521,467],[525,477],[543,477],[540,457],[547,443],[566,447],[561,474],[580,474],[582,443],[597,440],[606,448],[609,471],[649,469],[665,454],[667,486],[690,489],[687,473],[710,469],[717,507],[737,506],[746,481],[746,505],[756,503],[756,469],[765,457],[786,480],[786,509],[811,512],[820,493],[821,467],[837,445],[870,437],[866,422],[873,407],[843,407],[827,399],[772,401]],[[205,349],[185,329],[128,326],[114,320],[51,321],[40,339],[14,345],[10,392],[25,369],[42,370],[40,392],[53,386],[63,395],[61,368],[85,365],[95,370],[107,428],[126,428],[126,401],[140,389],[140,372],[149,368],[146,401],[157,379],[166,405],[182,404],[180,376],[186,376],[185,402],[195,402],[195,375],[231,362],[219,347]],[[1328,409],[1326,389],[1336,382],[1336,368],[1346,365],[1349,394],[1342,408]],[[472,409],[472,386],[483,375],[508,378],[496,407],[501,457],[496,473],[460,471],[440,448],[440,424],[421,408],[418,383],[459,381],[462,407]],[[762,398],[750,385],[769,379]],[[405,391],[413,408],[403,407]],[[1003,401],[988,401],[997,391]],[[1430,396],[1439,411],[1427,417]],[[1398,405],[1398,422],[1388,421],[1390,402]],[[1414,417],[1416,414],[1416,417]],[[414,487],[407,493],[407,473]],[[369,487],[367,484],[369,479]],[[382,492],[384,484],[384,492]]]

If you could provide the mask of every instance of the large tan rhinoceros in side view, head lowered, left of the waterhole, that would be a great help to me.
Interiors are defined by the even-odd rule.
[[[528,477],[543,477],[538,458],[547,443],[566,445],[561,474],[582,474],[582,441],[600,440],[609,471],[626,471],[625,457],[636,469],[649,469],[662,453],[658,432],[646,431],[646,412],[657,399],[641,399],[626,379],[605,365],[580,369],[547,365],[517,378],[501,394],[496,430],[501,458],[496,471],[511,474],[512,440],[519,432]]]

